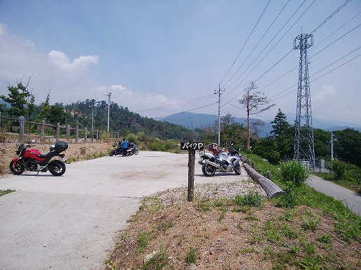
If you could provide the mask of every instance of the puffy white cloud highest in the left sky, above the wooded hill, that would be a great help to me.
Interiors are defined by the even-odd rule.
[[[97,57],[97,55],[80,56],[71,61],[69,57],[64,54],[64,52],[56,50],[52,50],[48,53],[48,59],[50,59],[50,61],[54,63],[55,66],[58,66],[59,68],[67,71],[86,67],[91,65],[92,63],[94,65],[97,65],[99,63],[99,57]]]

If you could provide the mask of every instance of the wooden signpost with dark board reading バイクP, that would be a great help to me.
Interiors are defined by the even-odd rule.
[[[192,202],[194,194],[194,160],[195,151],[204,150],[204,142],[180,142],[180,150],[188,150],[188,193],[187,201]]]

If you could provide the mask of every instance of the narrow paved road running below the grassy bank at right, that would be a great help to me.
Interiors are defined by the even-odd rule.
[[[314,174],[310,174],[309,179],[306,182],[312,188],[315,188],[318,192],[325,195],[334,197],[336,200],[340,200],[346,207],[351,209],[353,213],[361,216],[361,195],[355,193],[347,188],[339,186],[330,181],[326,181]]]

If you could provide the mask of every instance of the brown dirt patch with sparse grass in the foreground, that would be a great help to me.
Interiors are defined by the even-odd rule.
[[[227,193],[227,186],[209,191],[221,189]],[[318,209],[206,197],[186,202],[179,188],[145,200],[119,232],[106,269],[360,269],[360,242],[344,241]],[[317,226],[307,227],[312,220]]]

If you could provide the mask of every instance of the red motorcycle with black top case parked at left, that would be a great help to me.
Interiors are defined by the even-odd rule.
[[[32,142],[35,141],[33,140]],[[68,149],[68,144],[66,142],[59,141],[50,146],[50,152],[47,154],[42,154],[36,149],[30,149],[30,147],[34,147],[34,145],[16,145],[18,146],[16,150],[18,158],[13,158],[9,165],[10,171],[13,172],[13,174],[22,174],[25,169],[38,173],[49,171],[55,177],[64,174],[64,161],[66,161],[66,157],[65,153],[62,153],[62,151]],[[51,160],[55,156],[59,156],[62,160]]]

